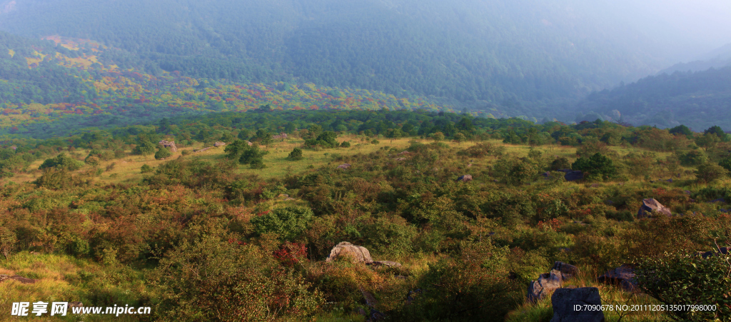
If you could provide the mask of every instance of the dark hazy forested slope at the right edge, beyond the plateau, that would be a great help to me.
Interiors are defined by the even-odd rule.
[[[602,117],[657,127],[685,124],[694,130],[717,124],[729,131],[731,67],[650,76],[591,94],[578,108],[586,115],[577,121]]]

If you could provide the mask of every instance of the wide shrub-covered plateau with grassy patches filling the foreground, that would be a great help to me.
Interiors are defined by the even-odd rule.
[[[3,143],[4,312],[63,299],[151,307],[143,321],[538,322],[555,308],[531,281],[550,272],[604,304],[715,305],[607,321],[731,318],[719,127],[267,105],[153,124]],[[338,255],[342,241],[368,255]],[[621,264],[636,278],[597,279]]]

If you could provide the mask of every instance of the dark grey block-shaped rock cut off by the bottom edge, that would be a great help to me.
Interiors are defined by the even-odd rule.
[[[602,305],[599,288],[559,288],[550,297],[553,318],[550,322],[604,322],[602,310],[585,310],[584,305]],[[582,310],[575,310],[580,305]]]

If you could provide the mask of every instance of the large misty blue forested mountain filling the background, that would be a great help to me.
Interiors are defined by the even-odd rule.
[[[12,5],[10,5],[12,4]],[[0,29],[135,53],[155,74],[314,82],[515,115],[656,71],[645,34],[583,1],[16,0]]]

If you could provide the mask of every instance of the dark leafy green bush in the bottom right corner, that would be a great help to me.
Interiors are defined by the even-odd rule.
[[[731,321],[731,256],[666,253],[640,259],[640,288],[667,305],[715,305],[716,310],[670,310],[677,321]]]

